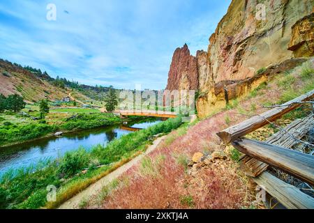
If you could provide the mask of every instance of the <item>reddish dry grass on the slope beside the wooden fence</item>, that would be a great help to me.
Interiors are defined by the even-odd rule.
[[[131,168],[123,178],[128,185],[114,190],[98,208],[241,208],[248,206],[247,185],[237,173],[232,161],[213,164],[197,172],[196,177],[186,174],[176,154],[191,157],[197,151],[214,151],[220,147],[216,136],[226,128],[225,114],[237,117],[234,111],[223,112],[204,120],[177,137],[170,146],[160,144],[149,154],[152,160],[163,155],[158,176],[143,176],[140,166]],[[232,124],[232,123],[230,123]],[[172,132],[176,134],[176,132]],[[206,142],[206,144],[204,144]],[[190,198],[190,202],[185,202]],[[94,206],[93,206],[94,207]]]

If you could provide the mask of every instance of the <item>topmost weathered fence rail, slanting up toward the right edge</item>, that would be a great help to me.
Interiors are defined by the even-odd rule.
[[[286,114],[287,112],[290,112],[291,110],[301,106],[301,104],[298,104],[297,102],[312,100],[313,96],[314,90],[301,95],[298,98],[294,98],[294,100],[286,102],[281,107],[271,109],[267,112],[264,112],[263,114],[249,118],[246,121],[218,132],[217,134],[220,139],[225,142],[225,144],[229,144],[231,141],[238,139],[239,137],[243,137],[244,135],[261,128],[262,126],[269,124],[269,121],[275,121],[277,118],[283,116],[283,114]]]

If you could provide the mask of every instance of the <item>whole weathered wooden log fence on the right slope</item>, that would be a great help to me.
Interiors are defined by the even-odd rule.
[[[241,169],[244,173],[253,178],[257,185],[260,185],[286,208],[312,209],[314,208],[314,199],[294,185],[285,183],[272,175],[267,169],[276,167],[308,185],[314,185],[314,156],[295,151],[292,148],[300,143],[307,132],[313,129],[313,114],[303,119],[297,119],[267,141],[247,139],[244,136],[276,121],[283,114],[301,106],[302,102],[311,102],[314,98],[313,95],[314,90],[217,133],[225,144],[231,143],[234,148],[245,154],[240,159]],[[312,144],[309,146],[313,149]]]

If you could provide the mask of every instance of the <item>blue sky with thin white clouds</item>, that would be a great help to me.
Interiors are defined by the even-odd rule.
[[[206,50],[230,2],[1,0],[0,58],[80,84],[165,89],[174,50]]]

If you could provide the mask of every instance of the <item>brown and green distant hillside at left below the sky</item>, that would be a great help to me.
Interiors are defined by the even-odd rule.
[[[0,59],[0,93],[3,95],[17,93],[26,101],[37,102],[45,98],[61,100],[73,91],[75,98],[89,104],[102,100],[108,88],[79,84],[60,77],[54,79],[39,69]]]

